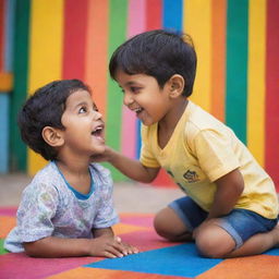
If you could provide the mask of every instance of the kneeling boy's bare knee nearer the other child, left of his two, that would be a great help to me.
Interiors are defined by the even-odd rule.
[[[170,207],[163,208],[155,216],[154,228],[160,236],[169,241],[192,240],[192,233]]]

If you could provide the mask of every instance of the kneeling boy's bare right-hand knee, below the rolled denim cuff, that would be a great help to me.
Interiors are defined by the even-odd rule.
[[[196,235],[195,240],[201,255],[209,258],[223,258],[235,245],[229,235],[222,235],[215,230],[204,230]]]

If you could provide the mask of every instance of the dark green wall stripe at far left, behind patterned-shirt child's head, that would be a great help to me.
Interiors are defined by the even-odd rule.
[[[26,170],[27,151],[21,141],[17,129],[17,112],[27,95],[27,69],[28,69],[28,33],[29,33],[29,0],[17,0],[15,7],[15,34],[14,34],[14,88],[11,94],[10,116],[10,146],[11,170]]]

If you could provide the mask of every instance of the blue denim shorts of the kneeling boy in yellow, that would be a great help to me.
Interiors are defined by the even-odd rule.
[[[182,219],[189,231],[197,228],[208,216],[208,213],[189,196],[173,201],[169,207]],[[241,208],[235,208],[219,219],[219,226],[235,241],[235,248],[239,248],[252,235],[272,230],[278,222],[278,218],[267,219],[254,211]]]

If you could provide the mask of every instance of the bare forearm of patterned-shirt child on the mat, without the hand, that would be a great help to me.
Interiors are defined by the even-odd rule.
[[[62,239],[48,236],[24,243],[27,255],[33,257],[74,257],[89,255],[89,239]]]

